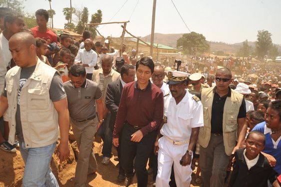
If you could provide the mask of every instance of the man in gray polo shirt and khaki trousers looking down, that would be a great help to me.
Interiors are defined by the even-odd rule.
[[[70,123],[79,149],[74,185],[84,187],[87,175],[97,170],[92,143],[97,129],[103,122],[102,93],[96,83],[86,79],[86,70],[83,66],[71,66],[69,78],[70,81],[63,85],[67,95]]]

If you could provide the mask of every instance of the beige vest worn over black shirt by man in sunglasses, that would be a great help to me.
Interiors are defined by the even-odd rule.
[[[201,92],[201,102],[204,113],[204,127],[200,127],[198,141],[206,148],[211,138],[212,104],[214,87],[205,88]],[[242,104],[243,95],[231,89],[231,97],[227,97],[223,114],[223,137],[225,152],[231,155],[237,140],[237,117]],[[215,116],[213,116],[215,117]]]

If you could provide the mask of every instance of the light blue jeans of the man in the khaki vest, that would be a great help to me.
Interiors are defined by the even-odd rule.
[[[25,148],[19,141],[19,151],[25,164],[23,187],[59,187],[50,170],[50,162],[56,143],[39,148]]]

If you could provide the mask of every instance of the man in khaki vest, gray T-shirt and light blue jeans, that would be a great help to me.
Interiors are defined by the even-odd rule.
[[[15,135],[25,164],[23,187],[58,187],[49,165],[60,134],[60,162],[69,155],[69,114],[59,73],[36,56],[34,37],[26,32],[9,39],[9,50],[17,66],[5,76],[0,97],[0,116],[7,110],[9,138]]]

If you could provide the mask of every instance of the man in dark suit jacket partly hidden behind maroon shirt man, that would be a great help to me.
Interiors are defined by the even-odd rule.
[[[111,119],[110,119],[110,123],[109,123],[111,135],[113,133],[114,124],[115,124],[116,115],[118,112],[118,106],[120,103],[120,98],[121,98],[123,87],[125,84],[127,84],[129,82],[133,82],[135,80],[135,74],[136,74],[135,67],[131,64],[124,64],[121,67],[120,74],[121,74],[120,79],[108,84],[106,97],[105,97],[106,107],[111,112]],[[112,139],[112,136],[111,136],[111,139]],[[120,145],[118,147],[116,147],[116,149],[117,149],[118,158],[119,158],[119,162],[120,162]],[[119,164],[119,175],[118,175],[117,180],[120,182],[125,180],[125,171],[121,168],[121,164]]]

